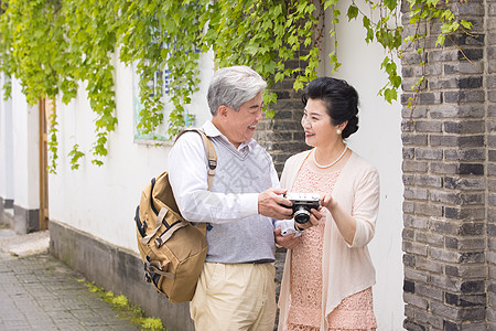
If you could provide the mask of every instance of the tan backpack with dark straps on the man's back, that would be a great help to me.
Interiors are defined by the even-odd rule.
[[[203,131],[191,130],[203,138],[211,191],[217,154]],[[166,171],[153,178],[143,189],[134,221],[145,280],[152,282],[173,303],[191,301],[207,254],[206,224],[193,225],[183,218]]]

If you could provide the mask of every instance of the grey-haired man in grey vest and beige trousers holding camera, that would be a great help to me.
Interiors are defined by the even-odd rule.
[[[182,215],[207,222],[208,254],[191,301],[195,329],[272,330],[276,317],[272,217],[291,218],[271,157],[254,139],[267,83],[247,66],[218,70],[202,130],[217,152],[212,191],[200,135],[186,132],[169,157]]]

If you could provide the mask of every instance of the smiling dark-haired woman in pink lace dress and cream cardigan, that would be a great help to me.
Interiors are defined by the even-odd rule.
[[[301,125],[313,149],[288,159],[281,186],[319,194],[322,209],[312,210],[317,222],[276,223],[277,243],[289,248],[279,330],[376,330],[367,244],[379,209],[379,177],[344,142],[358,129],[358,95],[344,81],[321,77],[302,99]],[[298,233],[282,236],[288,226]]]

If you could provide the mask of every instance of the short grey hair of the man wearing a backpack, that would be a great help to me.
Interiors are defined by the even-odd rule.
[[[236,111],[267,87],[260,75],[245,65],[219,68],[208,87],[207,100],[213,116],[218,107],[227,106]]]

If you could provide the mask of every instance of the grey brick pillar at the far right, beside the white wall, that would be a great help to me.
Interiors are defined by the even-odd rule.
[[[488,7],[486,17],[485,3]],[[428,36],[425,82],[414,109],[410,87],[422,75],[414,50],[402,62],[403,300],[407,330],[493,330],[496,324],[496,160],[492,138],[490,36],[495,2],[454,2],[452,10],[474,23],[444,47]],[[403,4],[406,33],[409,8]],[[439,25],[421,26],[431,32]],[[493,39],[493,41],[492,41]],[[490,46],[493,43],[493,46]],[[464,54],[470,61],[464,58]],[[487,61],[485,61],[487,58]],[[494,114],[494,115],[493,115]],[[496,137],[496,136],[495,136]],[[492,141],[494,140],[494,141]],[[492,159],[493,157],[493,159]]]

